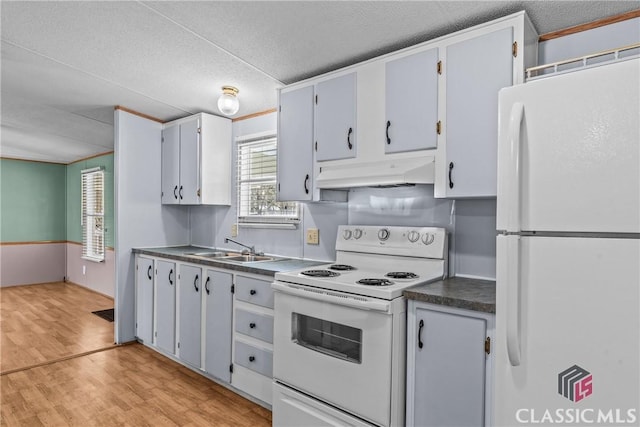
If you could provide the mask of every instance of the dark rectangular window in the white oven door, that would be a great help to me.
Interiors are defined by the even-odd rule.
[[[337,359],[362,363],[362,330],[328,320],[291,313],[291,340]]]

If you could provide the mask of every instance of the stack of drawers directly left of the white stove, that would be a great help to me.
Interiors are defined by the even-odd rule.
[[[236,274],[231,384],[271,404],[273,291],[269,277]]]

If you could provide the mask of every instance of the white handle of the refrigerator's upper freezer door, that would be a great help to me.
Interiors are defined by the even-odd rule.
[[[522,127],[522,119],[524,117],[524,105],[516,102],[511,107],[509,115],[509,158],[507,161],[507,176],[501,179],[505,185],[506,197],[503,199],[507,203],[504,204],[506,209],[506,230],[518,232],[520,231],[520,183],[522,181],[520,170],[520,153],[521,143],[520,130]]]

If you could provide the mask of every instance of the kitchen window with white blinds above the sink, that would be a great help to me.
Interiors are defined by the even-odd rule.
[[[238,222],[294,224],[298,204],[276,200],[277,138],[238,140]]]

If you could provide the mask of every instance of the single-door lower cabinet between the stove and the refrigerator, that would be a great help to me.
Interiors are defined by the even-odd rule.
[[[407,425],[491,425],[495,315],[409,301]]]

